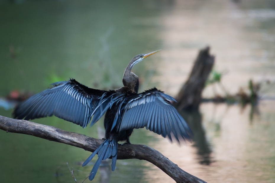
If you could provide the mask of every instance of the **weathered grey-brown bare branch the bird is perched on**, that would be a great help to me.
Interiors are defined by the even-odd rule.
[[[103,140],[91,138],[79,133],[68,132],[52,126],[41,125],[25,120],[15,120],[3,116],[0,116],[0,129],[6,132],[33,135],[35,137],[65,143],[91,152],[95,151],[103,142]],[[117,159],[140,159],[149,161],[164,171],[176,182],[205,182],[183,171],[160,152],[145,145],[125,144],[124,146],[119,146]]]

